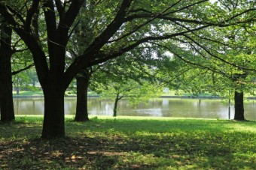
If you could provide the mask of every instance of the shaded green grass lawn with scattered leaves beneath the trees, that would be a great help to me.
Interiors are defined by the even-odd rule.
[[[256,169],[256,122],[66,118],[66,139],[40,139],[42,117],[0,124],[0,169]]]

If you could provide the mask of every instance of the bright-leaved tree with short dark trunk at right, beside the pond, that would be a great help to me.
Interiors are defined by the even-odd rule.
[[[227,13],[232,13],[233,10],[248,7],[251,4],[255,5],[249,1],[218,1],[215,4],[216,7],[221,6]],[[245,15],[239,17],[242,20],[253,15],[255,13],[245,13]],[[248,44],[251,44],[248,42],[254,41],[254,36],[251,36],[252,32],[254,32],[253,22],[230,25],[225,28],[206,28],[192,34],[185,34],[184,37],[178,37],[178,42],[177,40],[172,40],[168,45],[167,43],[164,45],[169,46],[167,48],[169,52],[172,52],[172,55],[205,70],[202,71],[203,73],[212,72],[213,75],[224,76],[225,81],[222,84],[226,85],[226,87],[221,85],[222,94],[224,90],[230,91],[230,88],[233,88],[235,99],[234,119],[241,121],[245,119],[243,92],[246,91],[246,86],[251,86],[251,82],[248,82],[250,80],[246,79],[246,77],[255,73],[255,60],[253,55],[250,56],[251,51],[254,51],[254,47],[248,46]],[[184,48],[180,48],[180,46],[184,46]],[[206,74],[204,73],[204,75]],[[193,86],[203,89],[201,88],[202,85],[198,86],[199,82],[208,84],[198,81],[195,84],[196,86]],[[210,85],[210,87],[216,87],[216,85]],[[215,88],[215,91],[220,90]]]

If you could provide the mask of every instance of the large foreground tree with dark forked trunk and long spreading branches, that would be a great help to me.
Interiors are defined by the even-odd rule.
[[[32,52],[38,80],[44,91],[42,138],[45,139],[65,136],[64,94],[69,83],[83,68],[116,58],[142,43],[254,19],[239,20],[242,14],[254,11],[254,8],[249,7],[225,13],[216,6],[215,10],[209,12],[206,9],[212,9],[212,4],[208,0],[99,1],[94,12],[101,17],[95,19],[85,16],[85,19],[101,23],[100,31],[95,33],[96,38],[90,41],[83,54],[66,67],[66,46],[83,5],[89,7],[95,4],[84,0],[24,1],[20,9],[16,4],[0,1],[0,13]],[[38,9],[44,13],[44,22],[41,23],[46,26],[41,28],[40,33],[47,32],[46,50],[41,47],[45,39],[38,40],[32,26],[33,16]],[[213,18],[217,13],[223,15]]]

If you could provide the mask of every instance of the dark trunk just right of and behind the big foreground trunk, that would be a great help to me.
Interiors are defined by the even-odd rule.
[[[77,80],[77,108],[75,121],[89,121],[87,107],[87,90],[90,83],[89,76],[76,76]]]

